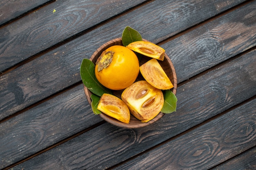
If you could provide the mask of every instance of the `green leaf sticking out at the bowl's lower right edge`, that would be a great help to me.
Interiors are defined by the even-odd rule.
[[[164,90],[164,106],[162,108],[163,113],[172,113],[176,111],[177,98],[171,90]]]

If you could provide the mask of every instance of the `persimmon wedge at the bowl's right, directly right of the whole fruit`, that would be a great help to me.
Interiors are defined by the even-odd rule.
[[[155,88],[162,90],[173,88],[173,83],[156,59],[147,61],[139,67],[139,70],[145,80]]]

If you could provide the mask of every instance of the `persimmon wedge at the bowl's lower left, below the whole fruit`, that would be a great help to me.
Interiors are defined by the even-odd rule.
[[[112,94],[103,94],[99,100],[97,109],[121,122],[130,122],[129,108],[120,98]]]

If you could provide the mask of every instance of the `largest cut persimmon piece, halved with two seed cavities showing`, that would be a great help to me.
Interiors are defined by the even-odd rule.
[[[155,118],[164,105],[162,91],[147,81],[133,83],[124,90],[121,98],[129,107],[130,113],[141,122],[148,122]]]

